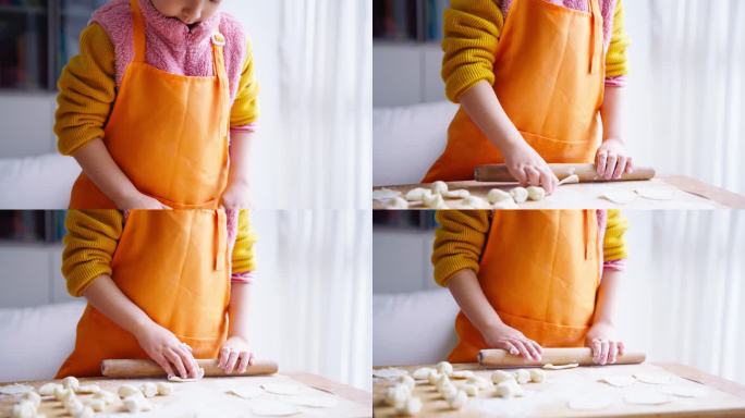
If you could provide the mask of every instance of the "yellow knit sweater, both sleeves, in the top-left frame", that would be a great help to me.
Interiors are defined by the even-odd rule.
[[[103,128],[117,99],[114,47],[97,23],[81,33],[81,53],[73,57],[58,82],[54,133],[65,156],[103,138]],[[237,94],[230,114],[231,126],[245,126],[258,118],[258,84],[254,78],[251,45],[246,49]]]

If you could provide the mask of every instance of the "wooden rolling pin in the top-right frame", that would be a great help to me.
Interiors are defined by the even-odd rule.
[[[579,177],[579,183],[624,182],[655,177],[655,169],[649,167],[635,167],[632,173],[624,173],[620,180],[602,179],[595,171],[595,164],[549,164],[549,168],[559,180],[576,174]],[[474,177],[477,182],[508,183],[516,181],[504,164],[478,165],[474,171]]]

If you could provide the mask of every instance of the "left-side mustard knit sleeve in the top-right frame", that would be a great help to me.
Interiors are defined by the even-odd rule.
[[[441,74],[450,100],[459,102],[483,79],[494,83],[494,51],[503,24],[496,0],[451,0],[444,12]]]

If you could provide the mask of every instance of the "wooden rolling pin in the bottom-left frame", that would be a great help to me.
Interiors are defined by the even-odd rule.
[[[212,358],[197,359],[197,364],[205,369],[205,377],[273,374],[278,370],[277,364],[269,360],[254,360],[254,365],[248,366],[245,373],[232,374],[218,368],[218,360]],[[101,374],[107,378],[159,378],[164,377],[166,372],[152,360],[111,359],[101,361]]]

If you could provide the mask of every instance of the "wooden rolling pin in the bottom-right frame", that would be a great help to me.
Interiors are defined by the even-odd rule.
[[[618,356],[615,365],[638,365],[646,359],[644,353],[625,353],[623,356]],[[491,368],[510,368],[510,367],[528,367],[528,366],[545,366],[548,364],[554,366],[569,365],[577,362],[579,366],[593,366],[593,355],[589,348],[544,348],[540,361],[526,360],[521,356],[514,356],[504,349],[481,349],[478,353],[478,362],[484,367]]]

